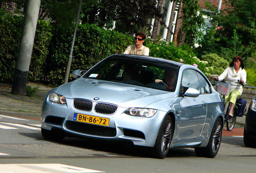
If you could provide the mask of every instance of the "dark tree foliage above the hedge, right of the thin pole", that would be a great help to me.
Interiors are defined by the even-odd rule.
[[[89,3],[90,2],[90,3]],[[112,27],[122,33],[138,32],[144,26],[149,27],[149,18],[161,17],[157,0],[89,0],[83,2],[83,23]]]

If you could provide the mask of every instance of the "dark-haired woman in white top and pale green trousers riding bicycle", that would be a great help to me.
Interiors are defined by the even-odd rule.
[[[234,80],[240,80],[242,84],[246,82],[246,70],[244,70],[244,62],[241,56],[235,56],[233,61],[229,64],[229,67],[219,76],[214,77],[214,80],[224,80],[226,78],[227,82]],[[233,109],[235,106],[235,101],[237,97],[242,95],[243,86],[238,83],[232,84],[229,90],[229,94],[225,97],[225,103],[229,101],[229,117],[233,117]]]

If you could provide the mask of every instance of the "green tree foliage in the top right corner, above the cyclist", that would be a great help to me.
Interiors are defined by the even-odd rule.
[[[226,8],[219,13],[215,6],[208,5],[215,27],[201,39],[198,52],[217,53],[228,61],[237,55],[246,60],[256,49],[256,1],[226,0],[223,4]]]

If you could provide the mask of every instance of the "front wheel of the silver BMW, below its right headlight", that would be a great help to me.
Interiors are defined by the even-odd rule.
[[[173,136],[173,124],[171,117],[167,115],[161,124],[155,146],[152,148],[153,157],[157,159],[163,159],[167,156],[171,139]]]

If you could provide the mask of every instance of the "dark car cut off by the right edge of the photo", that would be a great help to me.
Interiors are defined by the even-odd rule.
[[[252,99],[246,115],[244,144],[248,147],[256,147],[256,97]]]

